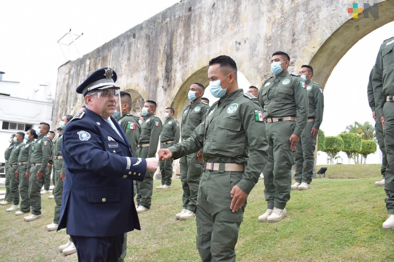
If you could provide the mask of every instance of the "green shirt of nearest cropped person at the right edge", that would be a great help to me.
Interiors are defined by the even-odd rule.
[[[386,96],[394,96],[394,37],[383,41],[380,46],[372,75],[372,85],[375,96],[375,115],[376,118],[380,118],[383,116]]]

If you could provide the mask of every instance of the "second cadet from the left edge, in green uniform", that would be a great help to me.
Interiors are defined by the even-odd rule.
[[[12,197],[13,205],[7,208],[7,212],[15,211],[19,209],[19,176],[18,171],[18,156],[20,149],[23,146],[24,133],[18,132],[14,140],[14,148],[11,150],[11,154],[8,159],[8,173],[9,173],[9,191]]]

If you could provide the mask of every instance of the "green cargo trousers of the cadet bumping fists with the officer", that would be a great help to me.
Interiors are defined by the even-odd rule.
[[[202,261],[235,261],[235,245],[246,201],[232,212],[230,191],[243,172],[205,170],[201,176],[196,206],[197,249]]]

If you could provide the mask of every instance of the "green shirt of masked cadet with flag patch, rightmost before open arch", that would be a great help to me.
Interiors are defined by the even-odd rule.
[[[316,129],[320,128],[323,121],[323,110],[324,110],[324,97],[323,89],[318,83],[314,83],[311,80],[305,82],[307,85],[308,93],[308,119],[314,118],[315,122],[313,127]]]

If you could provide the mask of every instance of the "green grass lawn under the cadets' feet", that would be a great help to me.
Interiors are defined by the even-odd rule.
[[[342,179],[314,179],[311,190],[292,191],[287,217],[278,223],[257,221],[266,209],[264,185],[257,183],[240,227],[237,260],[393,260],[394,230],[381,228],[386,195],[374,186],[380,166],[327,167],[327,177]],[[55,205],[47,196],[42,197],[43,217],[29,223],[0,207],[0,261],[77,261],[76,254],[64,257],[57,251],[68,240],[65,231],[45,230]],[[142,230],[128,233],[126,260],[199,261],[195,219],[174,218],[181,197],[180,180],[170,190],[154,190],[152,209],[139,216]]]

